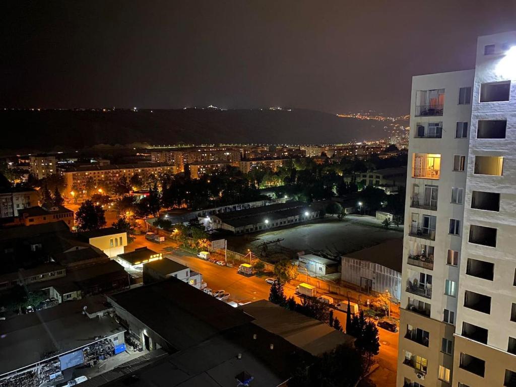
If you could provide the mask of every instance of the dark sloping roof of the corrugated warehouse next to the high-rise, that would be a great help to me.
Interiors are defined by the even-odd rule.
[[[378,245],[343,255],[343,258],[374,262],[401,272],[403,263],[403,239],[388,239]]]

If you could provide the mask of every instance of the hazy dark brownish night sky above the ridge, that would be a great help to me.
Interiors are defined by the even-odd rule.
[[[289,106],[407,114],[411,76],[473,68],[516,0],[5,1],[1,107]]]

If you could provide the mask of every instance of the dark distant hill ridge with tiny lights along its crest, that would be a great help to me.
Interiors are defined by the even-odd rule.
[[[304,109],[0,110],[0,150],[95,144],[340,143],[385,137],[385,123]]]

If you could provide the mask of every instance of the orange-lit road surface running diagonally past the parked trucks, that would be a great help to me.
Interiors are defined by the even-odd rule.
[[[208,261],[204,261],[183,250],[178,250],[170,241],[157,244],[137,235],[130,246],[125,251],[133,251],[138,247],[148,247],[156,252],[162,252],[164,256],[179,262],[192,270],[202,273],[203,280],[214,291],[224,289],[231,293],[231,300],[235,302],[256,301],[269,298],[270,285],[265,282],[265,277],[245,277],[237,273],[236,268],[218,266]],[[285,295],[295,296],[296,283],[285,285]],[[334,297],[334,295],[329,295]],[[300,299],[296,297],[296,301]],[[345,329],[346,313],[335,310],[334,316],[337,317]],[[378,386],[394,387],[396,385],[396,366],[398,357],[398,333],[386,331],[378,328],[380,334],[380,353],[376,357],[379,368],[370,376],[370,379]]]

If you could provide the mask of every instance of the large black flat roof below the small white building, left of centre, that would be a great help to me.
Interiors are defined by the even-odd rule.
[[[231,305],[173,277],[109,295],[108,300],[131,313],[178,350],[252,320]]]

